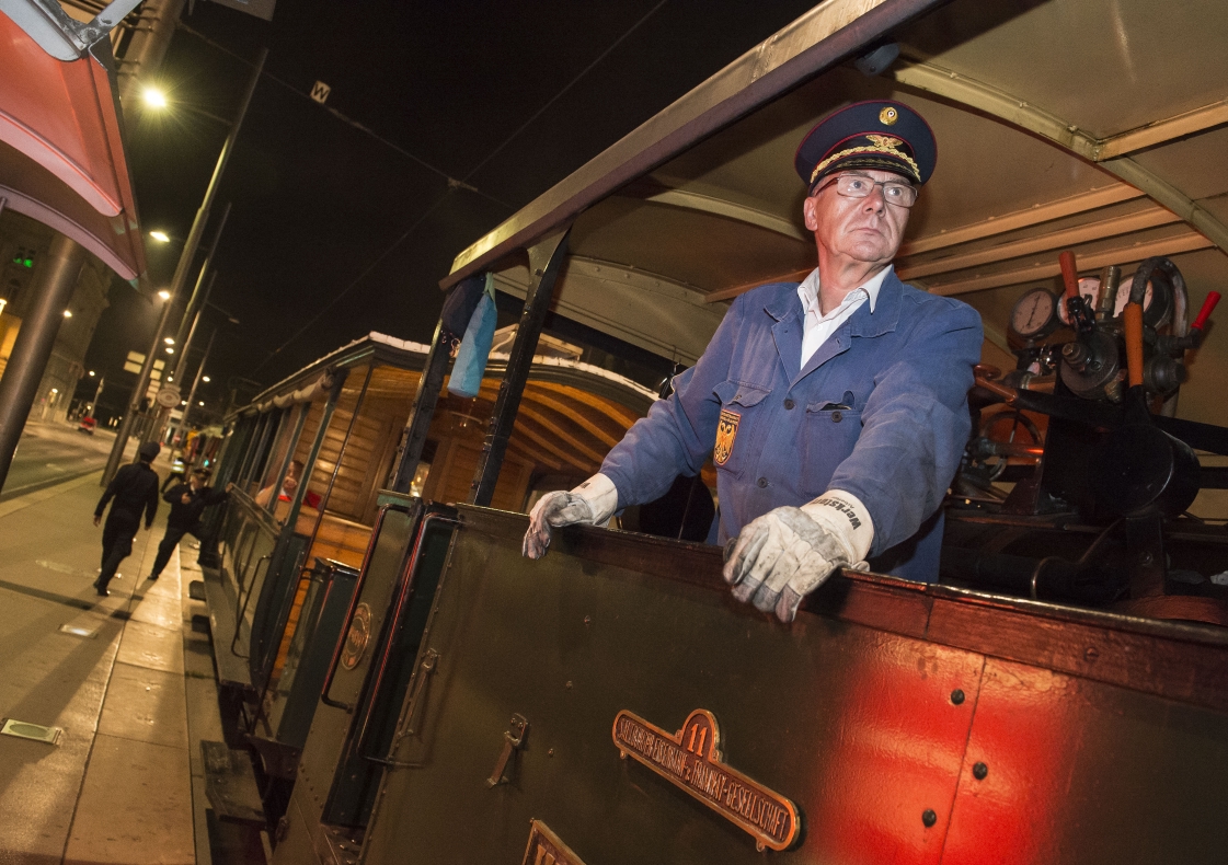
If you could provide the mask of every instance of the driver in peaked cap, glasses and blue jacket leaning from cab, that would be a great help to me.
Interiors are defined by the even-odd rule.
[[[545,553],[551,526],[653,501],[711,454],[738,600],[792,621],[837,567],[866,559],[936,580],[939,506],[970,431],[982,339],[974,309],[893,272],[936,161],[928,124],[901,103],[852,104],[812,129],[795,168],[819,266],[801,285],[738,297],[600,472],[538,502],[524,555]]]

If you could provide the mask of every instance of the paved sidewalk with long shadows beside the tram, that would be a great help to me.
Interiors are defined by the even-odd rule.
[[[199,740],[222,734],[199,571],[144,579],[163,504],[98,598],[98,477],[0,503],[0,718],[61,729],[0,736],[0,864],[204,865]]]

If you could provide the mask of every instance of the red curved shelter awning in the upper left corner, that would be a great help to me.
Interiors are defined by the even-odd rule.
[[[4,206],[135,279],[145,249],[107,69],[88,53],[56,60],[2,12],[0,69]]]

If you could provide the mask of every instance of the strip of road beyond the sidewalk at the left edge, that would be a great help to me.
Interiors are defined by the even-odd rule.
[[[77,432],[76,425],[29,421],[0,490],[0,502],[103,467],[114,440],[109,429],[90,436]]]

